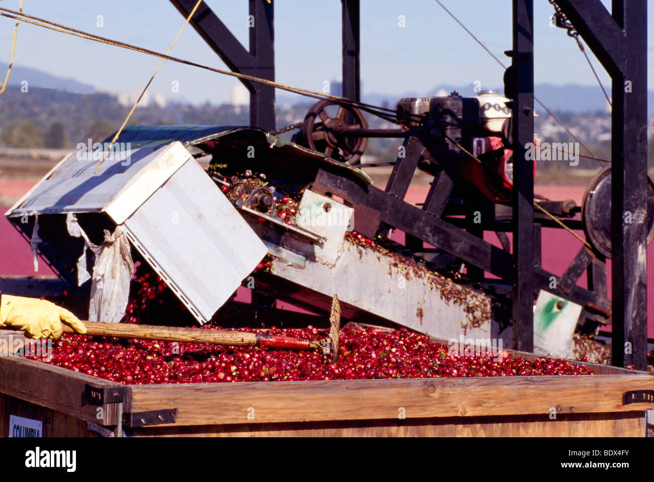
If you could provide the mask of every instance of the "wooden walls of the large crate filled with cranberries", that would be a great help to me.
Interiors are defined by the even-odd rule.
[[[654,378],[574,363],[593,374],[135,385],[0,356],[0,436],[10,415],[44,436],[644,436]]]

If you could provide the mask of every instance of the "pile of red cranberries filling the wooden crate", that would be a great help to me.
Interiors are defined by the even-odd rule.
[[[326,330],[314,327],[270,332],[309,340],[326,336]],[[63,336],[50,359],[32,359],[124,384],[592,374],[586,366],[570,361],[514,359],[506,351],[487,356],[451,354],[447,345],[404,328],[383,332],[345,327],[335,363],[315,351],[82,335]]]

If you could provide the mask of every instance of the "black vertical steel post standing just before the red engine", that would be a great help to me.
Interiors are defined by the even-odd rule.
[[[534,2],[513,0],[513,347],[534,351]]]

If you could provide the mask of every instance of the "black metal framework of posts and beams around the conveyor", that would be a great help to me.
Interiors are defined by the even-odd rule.
[[[343,13],[343,97],[359,100],[359,0],[341,0]],[[188,16],[194,0],[171,0],[184,16]],[[534,57],[533,0],[512,0],[513,54],[509,80],[515,88],[513,103],[513,139],[515,159],[525,159],[525,144],[534,134]],[[247,52],[230,31],[202,3],[192,18],[192,25],[227,65],[236,72],[274,80],[273,7],[266,0],[249,0],[250,14],[256,24],[250,31],[250,52]],[[646,56],[647,5],[645,0],[613,0],[611,15],[599,0],[557,0],[562,12],[589,45],[613,80],[613,111],[611,157],[615,177],[612,183],[612,289],[613,347],[630,343],[630,352],[613,350],[613,364],[634,364],[645,369],[647,353],[647,232],[643,215],[647,195],[647,136],[646,136]],[[628,8],[627,8],[628,6]],[[625,82],[630,82],[626,88]],[[275,94],[273,88],[243,82],[250,90],[250,123],[274,129]],[[407,140],[409,140],[407,138]],[[422,147],[422,146],[420,146]],[[422,155],[419,154],[419,156]],[[428,155],[426,153],[425,155]],[[404,159],[396,166],[387,192],[364,189],[352,180],[321,171],[315,185],[343,197],[356,197],[358,204],[369,208],[368,223],[379,226],[386,221],[408,234],[438,244],[477,268],[513,280],[513,319],[515,347],[533,348],[533,303],[536,287],[549,284],[550,274],[540,267],[540,225],[534,225],[534,179],[532,161],[514,163],[513,239],[514,254],[494,248],[478,238],[479,231],[466,233],[439,219],[445,206],[443,189],[449,193],[451,179],[444,170],[435,180],[424,210],[407,206],[402,201],[415,169],[413,161]],[[413,168],[413,169],[411,169]],[[617,173],[617,174],[616,174]],[[436,189],[438,187],[438,189]],[[318,189],[320,190],[320,189]],[[436,191],[439,191],[438,195]],[[432,192],[433,191],[433,192]],[[375,214],[374,211],[377,211]],[[635,221],[625,223],[629,211]],[[538,217],[538,216],[536,216]],[[640,222],[639,222],[640,221]],[[501,223],[500,223],[501,224]],[[503,227],[497,226],[498,231]],[[504,230],[507,231],[506,226]],[[421,232],[422,231],[422,232]],[[428,231],[428,232],[426,232]],[[365,233],[364,233],[365,234]],[[415,240],[414,240],[415,241]],[[596,253],[580,251],[574,266],[557,281],[562,286],[549,290],[595,305],[606,294],[605,266]],[[587,266],[589,289],[577,287],[574,281]],[[511,270],[511,266],[513,269]],[[568,291],[570,293],[568,293]],[[596,306],[605,315],[610,307]],[[627,353],[628,352],[628,353]]]

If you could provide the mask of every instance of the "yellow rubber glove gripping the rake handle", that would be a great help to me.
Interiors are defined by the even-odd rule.
[[[29,338],[56,340],[63,333],[62,321],[79,334],[86,333],[84,323],[73,313],[50,301],[0,295],[0,328],[22,330]]]

